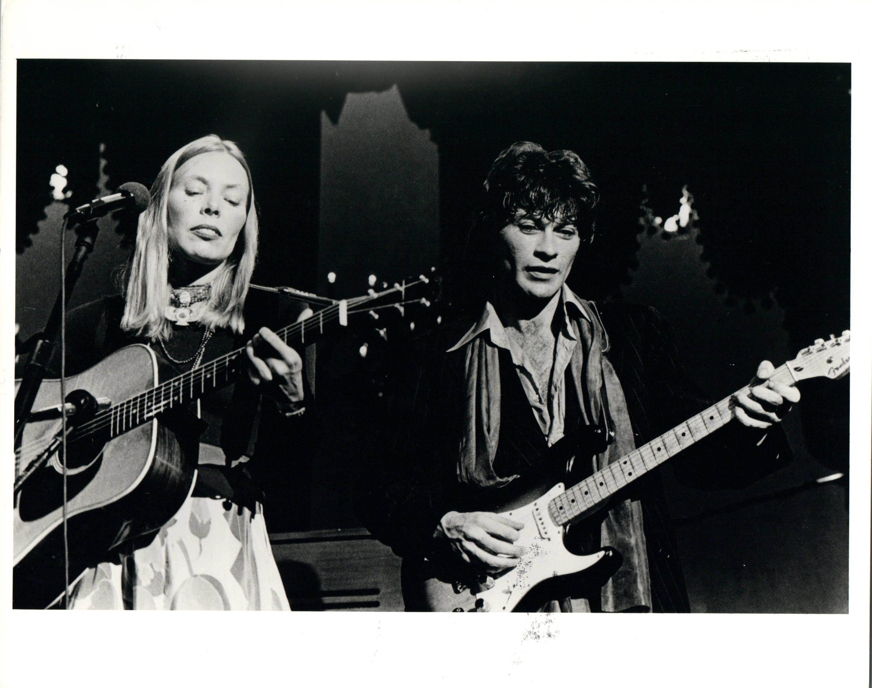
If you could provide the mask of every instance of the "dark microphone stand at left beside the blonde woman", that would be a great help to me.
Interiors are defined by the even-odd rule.
[[[73,287],[76,286],[78,276],[82,272],[82,265],[85,265],[85,260],[94,249],[94,241],[97,239],[97,220],[99,217],[93,217],[90,220],[81,224],[81,229],[78,231],[78,239],[76,240],[75,251],[73,252],[70,264],[66,268],[65,290],[66,303],[70,303]],[[64,224],[64,230],[67,229],[68,222]],[[43,332],[39,335],[36,345],[31,351],[31,356],[24,367],[21,384],[18,386],[18,391],[15,396],[15,446],[18,447],[21,443],[21,436],[24,432],[24,425],[27,423],[33,402],[37,399],[37,392],[45,377],[45,366],[51,359],[52,344],[58,336],[58,331],[61,325],[61,306],[62,294],[58,292],[58,298],[55,299],[54,307],[51,309],[49,320],[45,324]]]

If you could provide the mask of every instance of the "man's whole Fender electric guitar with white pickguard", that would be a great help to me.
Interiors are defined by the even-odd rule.
[[[817,340],[802,349],[793,361],[777,368],[770,380],[793,384],[811,377],[835,380],[847,375],[850,341],[848,330],[841,337],[831,335],[828,341]],[[739,389],[736,394],[749,389],[750,386]],[[692,416],[569,489],[562,483],[555,485],[553,478],[546,477],[522,491],[515,491],[508,501],[491,509],[524,524],[519,532],[521,537],[514,544],[523,547],[525,553],[515,568],[494,575],[489,581],[487,577],[460,580],[453,575],[456,569],[448,572],[429,561],[406,568],[404,562],[406,608],[512,611],[534,590],[541,594],[542,588],[560,588],[561,582],[565,585],[567,576],[582,572],[596,574],[597,569],[607,573],[610,562],[613,565],[618,559],[615,550],[605,547],[592,554],[571,554],[563,543],[566,527],[588,519],[623,487],[729,423],[734,417],[733,396]],[[558,449],[559,444],[552,450]],[[603,574],[603,570],[599,573]],[[491,581],[493,585],[487,588]],[[542,595],[529,595],[531,598],[539,596]]]

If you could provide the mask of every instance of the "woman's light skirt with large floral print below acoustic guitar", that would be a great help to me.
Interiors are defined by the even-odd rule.
[[[260,506],[225,509],[206,497],[188,497],[151,544],[119,564],[85,571],[70,602],[71,609],[290,611]]]

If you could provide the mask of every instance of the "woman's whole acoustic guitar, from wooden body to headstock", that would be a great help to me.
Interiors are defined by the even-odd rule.
[[[386,287],[386,285],[385,285]],[[337,301],[310,318],[276,331],[285,343],[307,345],[350,316],[379,320],[386,311],[410,316],[409,306],[428,307],[439,297],[431,274],[367,295]],[[428,298],[429,297],[429,298]],[[411,323],[410,323],[411,324]],[[106,400],[108,408],[67,420],[66,481],[57,405],[60,381],[39,389],[31,420],[15,453],[13,515],[13,604],[50,606],[65,590],[64,503],[71,584],[85,568],[137,534],[157,530],[194,489],[195,452],[185,451],[164,415],[232,382],[246,360],[240,348],[183,375],[160,381],[158,361],[145,344],[119,349],[96,366],[66,378],[65,389]],[[111,401],[109,401],[111,400]],[[54,410],[54,413],[51,411]],[[47,419],[45,419],[47,416]],[[64,485],[66,482],[66,486]]]

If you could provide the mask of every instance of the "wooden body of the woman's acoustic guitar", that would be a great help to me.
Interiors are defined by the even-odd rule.
[[[157,360],[142,344],[119,349],[85,372],[67,378],[65,389],[85,389],[95,397],[121,402],[152,389]],[[35,409],[58,404],[60,381],[43,382]],[[61,420],[28,423],[22,437],[17,476],[37,458],[28,447],[49,444]],[[102,442],[103,436],[68,442],[67,540],[71,582],[88,566],[106,560],[119,544],[122,527],[135,523],[156,529],[181,507],[194,482],[190,460],[174,434],[157,420]],[[63,476],[59,452],[38,468],[17,493],[13,515],[13,606],[44,608],[63,594]],[[54,465],[52,465],[54,464]],[[122,536],[123,537],[123,536]]]

